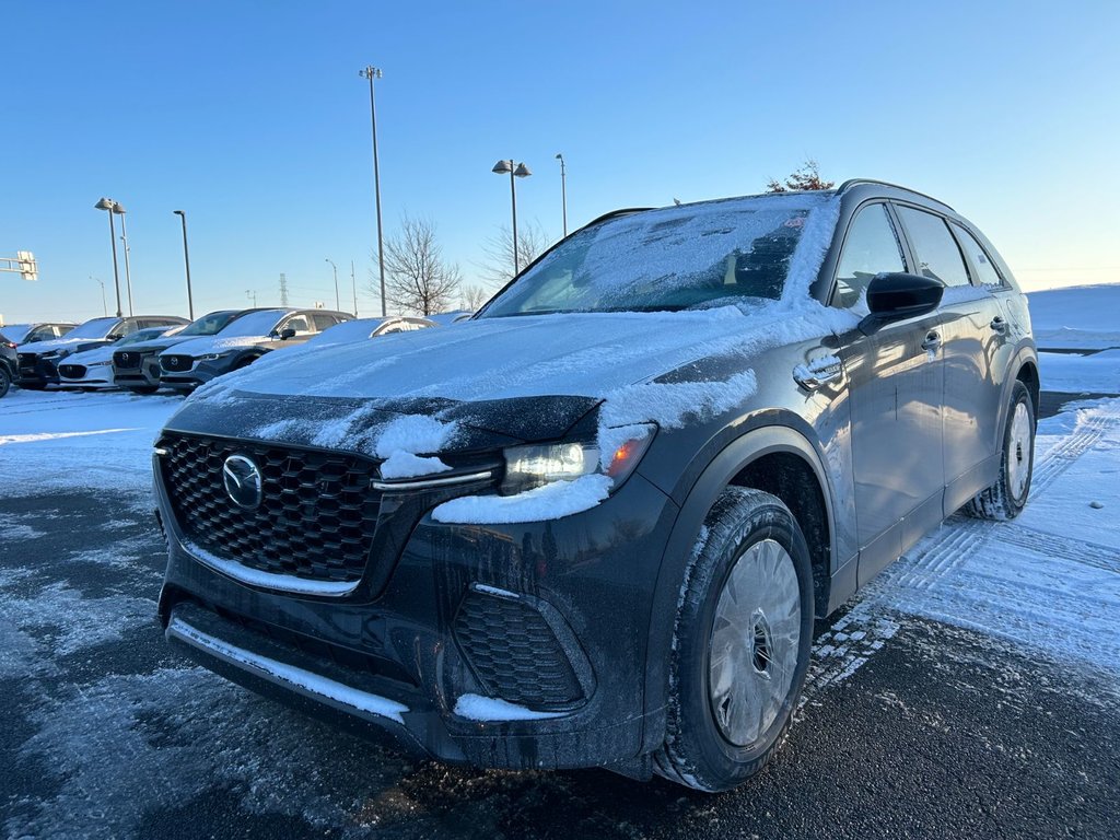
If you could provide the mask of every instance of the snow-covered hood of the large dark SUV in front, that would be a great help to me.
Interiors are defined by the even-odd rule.
[[[711,394],[743,396],[758,353],[824,335],[837,317],[851,319],[809,300],[740,306],[479,319],[455,329],[272,353],[199,389],[171,426],[205,430],[213,422],[212,432],[361,448],[364,424],[379,412],[523,440],[564,433],[601,400],[633,405],[651,414],[645,420],[660,422],[656,407],[646,407],[665,392],[643,393],[642,383],[693,385],[676,394],[671,408],[678,414],[711,403]],[[612,416],[612,424],[641,421],[634,413]],[[328,427],[345,427],[346,433],[330,437]]]

